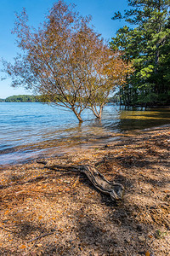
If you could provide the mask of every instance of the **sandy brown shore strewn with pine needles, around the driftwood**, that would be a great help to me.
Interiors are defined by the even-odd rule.
[[[48,159],[90,164],[125,186],[121,203],[82,174],[36,161],[0,168],[0,255],[170,255],[170,129]]]

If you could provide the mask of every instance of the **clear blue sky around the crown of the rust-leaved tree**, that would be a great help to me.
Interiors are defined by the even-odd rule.
[[[14,13],[20,13],[26,8],[31,26],[37,27],[48,14],[54,0],[1,0],[0,9],[0,58],[13,61],[17,53],[14,44],[14,35],[11,30],[14,28]],[[66,3],[75,3],[76,9],[81,15],[92,15],[96,32],[102,34],[103,38],[110,39],[116,34],[116,30],[124,25],[123,21],[111,20],[114,12],[127,9],[127,0],[65,0]],[[2,76],[2,73],[0,73]],[[10,79],[0,80],[0,98],[7,96],[31,94],[22,88],[13,89],[10,87]]]

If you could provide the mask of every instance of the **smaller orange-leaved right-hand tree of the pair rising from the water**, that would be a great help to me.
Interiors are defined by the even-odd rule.
[[[108,49],[107,55],[100,53],[99,73],[90,89],[88,106],[97,118],[101,118],[102,110],[108,97],[116,87],[126,84],[126,78],[133,72],[132,65],[122,61],[122,53]],[[108,57],[109,56],[109,57]],[[105,61],[107,60],[107,61]]]

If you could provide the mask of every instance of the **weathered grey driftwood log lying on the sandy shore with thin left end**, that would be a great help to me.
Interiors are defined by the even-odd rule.
[[[80,166],[48,166],[48,162],[39,161],[44,164],[44,168],[48,168],[55,171],[61,172],[81,172],[84,173],[91,183],[94,184],[96,189],[99,189],[106,195],[111,195],[113,201],[122,200],[124,194],[124,187],[120,183],[111,183],[108,181],[94,166],[80,165]]]

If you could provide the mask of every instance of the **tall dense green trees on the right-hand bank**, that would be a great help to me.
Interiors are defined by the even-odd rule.
[[[111,49],[133,62],[134,72],[120,89],[122,104],[170,104],[170,3],[167,0],[128,0],[131,9],[113,20],[125,19],[112,38]],[[135,26],[135,27],[134,27]]]

